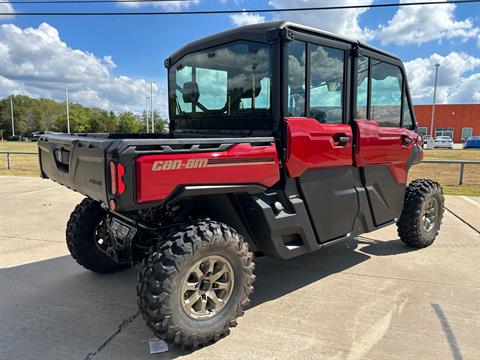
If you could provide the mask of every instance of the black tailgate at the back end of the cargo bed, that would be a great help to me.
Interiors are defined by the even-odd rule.
[[[107,201],[105,149],[111,143],[106,138],[42,135],[38,141],[42,177],[95,200]]]

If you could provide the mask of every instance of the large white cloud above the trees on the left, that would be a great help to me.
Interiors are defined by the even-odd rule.
[[[150,90],[147,81],[115,76],[115,68],[111,56],[99,58],[72,49],[47,23],[25,29],[0,25],[0,97],[16,93],[63,100],[69,84],[73,102],[115,110],[143,109]],[[156,86],[155,92],[165,114],[165,86]]]

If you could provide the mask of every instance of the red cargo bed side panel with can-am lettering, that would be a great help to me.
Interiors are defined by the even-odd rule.
[[[237,144],[222,152],[145,155],[136,160],[138,203],[164,200],[179,184],[270,187],[279,178],[275,144]]]

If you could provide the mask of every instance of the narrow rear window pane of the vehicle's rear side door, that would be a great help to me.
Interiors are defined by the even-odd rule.
[[[288,44],[288,115],[305,116],[305,43]]]

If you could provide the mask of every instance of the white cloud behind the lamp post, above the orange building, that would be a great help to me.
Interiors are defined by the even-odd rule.
[[[469,75],[480,67],[480,57],[452,51],[446,56],[432,54],[428,58],[417,58],[405,63],[414,103],[432,102],[437,63],[440,64],[437,87],[439,103],[480,101],[480,73]]]

